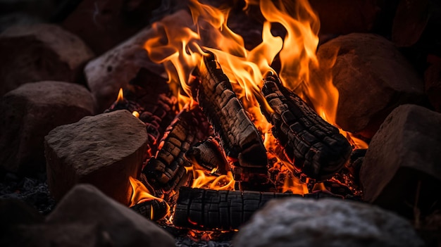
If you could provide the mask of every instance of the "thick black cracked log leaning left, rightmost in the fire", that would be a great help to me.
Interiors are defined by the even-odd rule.
[[[274,112],[262,110],[273,124],[273,134],[285,148],[287,158],[311,179],[332,177],[351,154],[347,139],[299,96],[283,87],[276,75],[271,73],[264,81],[262,93]]]

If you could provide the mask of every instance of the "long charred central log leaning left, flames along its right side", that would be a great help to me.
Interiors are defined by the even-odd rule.
[[[190,85],[192,96],[220,137],[225,155],[237,166],[238,169],[232,169],[235,179],[266,181],[268,158],[261,134],[212,53],[204,56],[204,63],[195,74],[197,80]]]

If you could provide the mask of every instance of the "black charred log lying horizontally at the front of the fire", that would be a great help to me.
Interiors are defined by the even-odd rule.
[[[180,188],[173,224],[199,230],[234,230],[273,198],[302,197],[297,194],[257,191],[215,191]],[[336,197],[332,194],[306,194],[306,198]]]

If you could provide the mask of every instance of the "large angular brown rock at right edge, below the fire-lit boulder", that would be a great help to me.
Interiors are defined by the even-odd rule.
[[[364,200],[406,217],[441,209],[441,114],[399,106],[372,138],[360,170]]]

